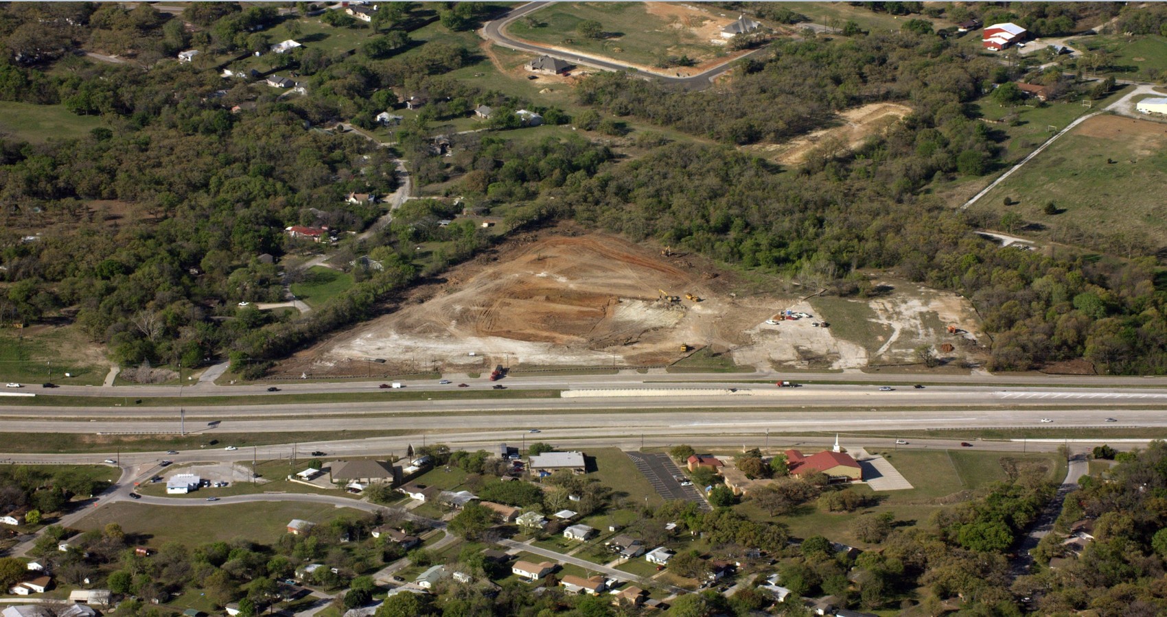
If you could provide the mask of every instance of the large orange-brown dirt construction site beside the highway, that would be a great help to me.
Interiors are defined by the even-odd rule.
[[[941,323],[970,313],[964,299],[928,304],[959,315],[923,321],[901,314],[920,303],[895,304],[903,311],[888,309],[887,299],[879,303],[868,309],[879,322],[873,341],[845,341],[836,337],[844,329],[816,325],[834,320],[815,315],[798,288],[760,293],[697,255],[613,236],[529,234],[452,268],[445,282],[419,286],[392,313],[305,350],[277,373],[489,372],[503,363],[532,370],[668,366],[701,352],[759,369],[859,369],[876,357],[910,356],[913,348],[897,343],[935,339],[939,346],[948,341]],[[787,309],[810,316],[767,323]]]

